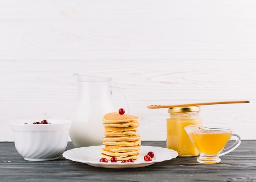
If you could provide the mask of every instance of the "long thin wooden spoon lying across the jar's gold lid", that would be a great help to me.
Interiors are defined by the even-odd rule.
[[[236,103],[249,103],[250,101],[221,101],[221,102],[205,102],[205,103],[192,103],[192,104],[180,104],[180,105],[149,105],[148,109],[159,109],[168,107],[188,107],[197,105],[213,105],[213,104],[236,104]]]

